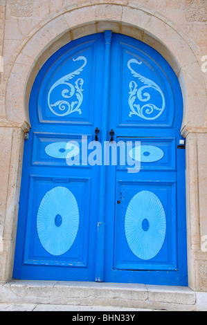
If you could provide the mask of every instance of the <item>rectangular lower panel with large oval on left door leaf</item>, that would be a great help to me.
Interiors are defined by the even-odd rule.
[[[30,177],[24,264],[86,267],[90,180]]]

